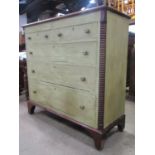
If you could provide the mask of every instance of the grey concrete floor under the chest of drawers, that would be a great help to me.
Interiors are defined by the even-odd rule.
[[[105,141],[104,149],[97,151],[87,134],[36,108],[27,113],[24,96],[19,104],[20,155],[134,155],[135,104],[126,101],[126,128],[123,133],[114,128]]]

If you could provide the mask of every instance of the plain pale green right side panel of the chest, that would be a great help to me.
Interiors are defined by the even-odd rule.
[[[124,114],[129,20],[107,12],[104,125]]]

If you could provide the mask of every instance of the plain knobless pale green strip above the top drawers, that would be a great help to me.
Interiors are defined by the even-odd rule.
[[[56,21],[49,21],[46,23],[40,23],[37,25],[32,25],[30,27],[25,27],[25,33],[32,33],[32,32],[42,32],[46,30],[53,30],[57,28],[64,28],[68,26],[75,26],[80,24],[87,24],[92,22],[99,21],[99,12],[88,13],[84,15],[74,16],[70,18],[65,18]]]

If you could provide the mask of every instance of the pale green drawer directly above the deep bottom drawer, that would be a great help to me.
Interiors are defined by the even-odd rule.
[[[28,62],[28,76],[49,83],[94,91],[96,88],[97,69],[95,67],[33,61],[33,63]]]

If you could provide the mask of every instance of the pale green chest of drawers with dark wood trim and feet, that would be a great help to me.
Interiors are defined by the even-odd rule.
[[[108,129],[122,131],[128,23],[101,6],[24,26],[29,113],[38,105],[84,127],[98,149]]]

